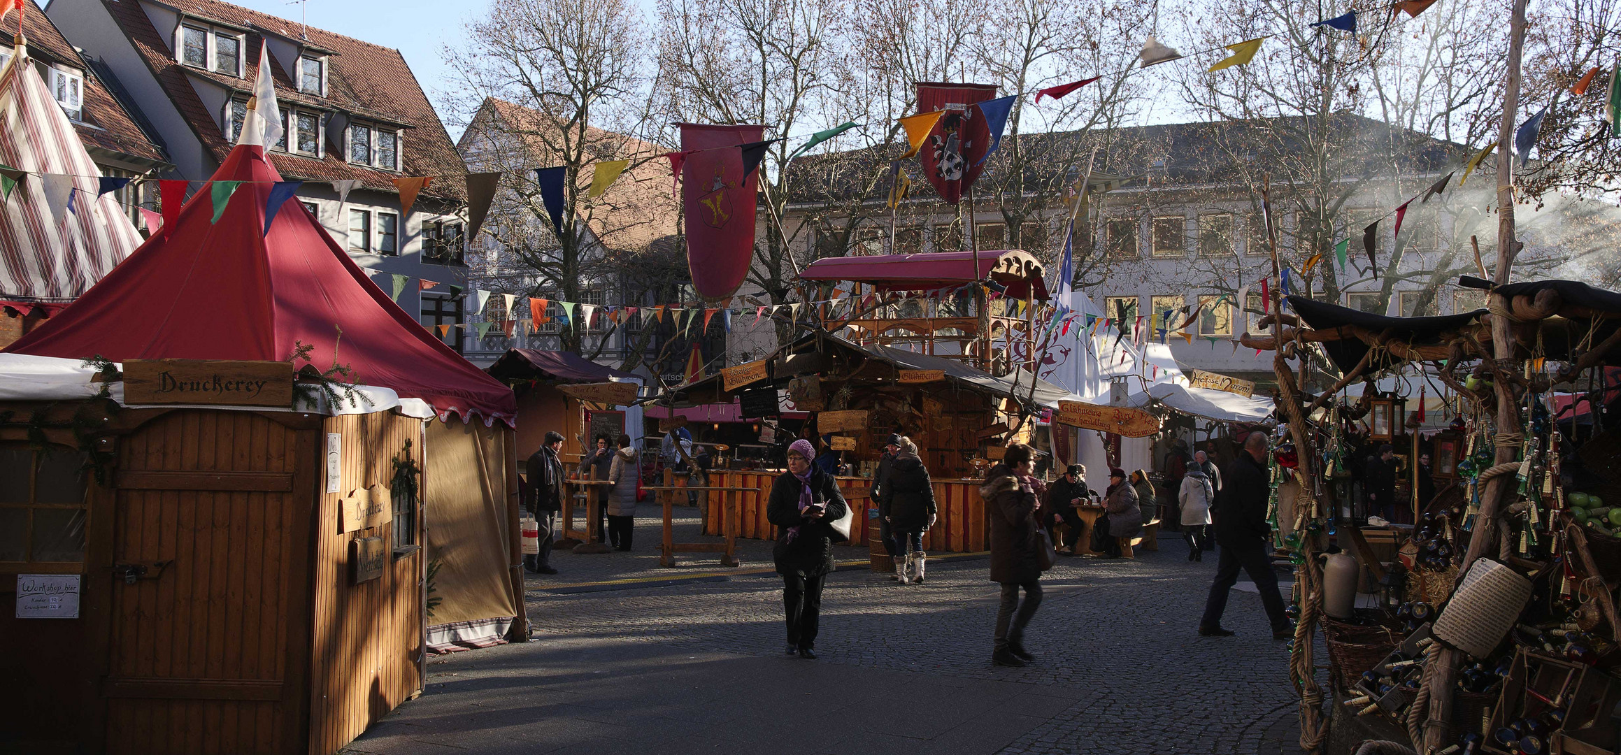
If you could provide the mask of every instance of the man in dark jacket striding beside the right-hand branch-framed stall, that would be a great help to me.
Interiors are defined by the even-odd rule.
[[[1266,468],[1266,433],[1250,433],[1243,452],[1227,467],[1227,484],[1216,493],[1211,514],[1216,518],[1216,544],[1221,559],[1216,564],[1216,582],[1204,601],[1204,617],[1200,633],[1204,637],[1232,637],[1222,629],[1221,614],[1227,609],[1227,591],[1238,583],[1243,569],[1261,593],[1266,617],[1272,622],[1272,638],[1287,640],[1295,635],[1284,614],[1284,596],[1277,591],[1277,574],[1272,572],[1268,536],[1272,528],[1266,522],[1266,502],[1271,497],[1269,470]]]

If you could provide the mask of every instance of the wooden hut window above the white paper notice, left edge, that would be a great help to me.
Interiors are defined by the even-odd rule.
[[[84,561],[88,462],[63,446],[0,442],[0,562]]]

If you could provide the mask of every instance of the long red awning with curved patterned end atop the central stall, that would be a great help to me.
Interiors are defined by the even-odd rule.
[[[1034,298],[1047,298],[1044,267],[1023,250],[934,251],[927,254],[877,254],[858,258],[822,258],[810,262],[802,280],[851,280],[879,290],[926,292],[955,288],[974,280],[992,280],[1008,287],[1007,295],[1024,298],[1034,285]]]

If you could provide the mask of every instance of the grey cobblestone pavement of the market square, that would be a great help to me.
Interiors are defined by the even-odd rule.
[[[430,661],[426,693],[349,752],[1298,752],[1289,656],[1253,587],[1229,603],[1237,637],[1198,637],[1214,559],[1187,562],[1175,535],[1047,572],[1024,669],[989,663],[984,559],[932,562],[916,587],[828,577],[817,663],[780,655],[775,575],[559,588],[720,572],[660,569],[653,535],[637,533],[642,554],[559,554],[561,575],[528,583],[540,642]],[[768,543],[739,543],[742,570],[768,567]]]

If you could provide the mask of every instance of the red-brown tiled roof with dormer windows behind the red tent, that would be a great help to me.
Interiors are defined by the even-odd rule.
[[[271,152],[271,162],[284,177],[316,181],[358,180],[361,186],[381,191],[397,191],[392,180],[408,175],[443,177],[421,191],[423,198],[439,198],[460,201],[465,196],[462,173],[465,165],[439,122],[438,112],[428,102],[417,76],[399,50],[361,42],[316,28],[302,28],[292,21],[243,8],[240,5],[217,0],[165,0],[165,5],[178,8],[186,16],[212,19],[230,26],[246,26],[254,29],[248,34],[245,53],[246,73],[243,78],[224,76],[183,66],[175,62],[169,41],[152,26],[141,3],[136,0],[102,0],[107,11],[130,37],[135,49],[146,60],[148,68],[169,92],[175,107],[191,125],[191,130],[203,141],[204,149],[224,160],[232,143],[219,130],[216,113],[198,97],[188,76],[214,81],[238,91],[248,91],[258,76],[261,34],[276,34],[297,41],[298,34],[308,34],[306,44],[336,55],[327,58],[327,96],[311,96],[298,92],[289,76],[292,60],[279,60],[271,55],[274,65],[271,76],[276,81],[276,96],[287,104],[306,104],[326,110],[342,110],[366,118],[378,118],[389,123],[408,126],[402,143],[402,172],[376,170],[365,165],[352,165],[344,160],[339,149],[332,147],[334,134],[327,134],[326,157],[303,157],[297,154]]]

